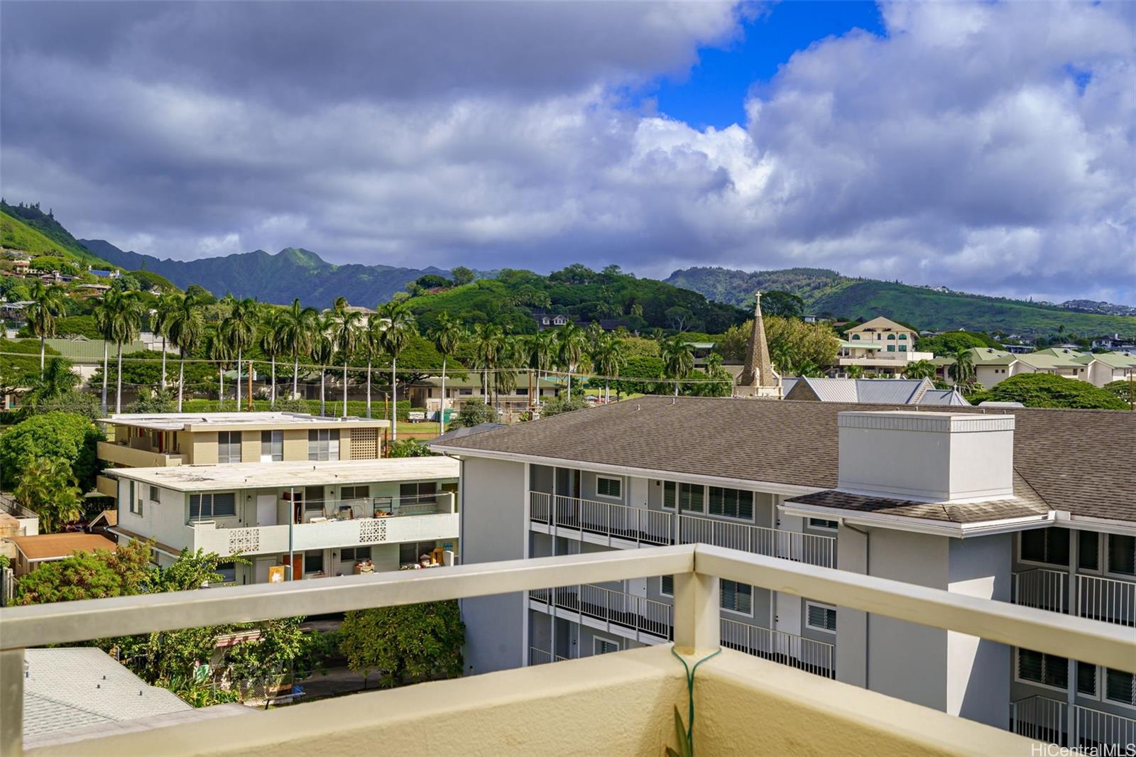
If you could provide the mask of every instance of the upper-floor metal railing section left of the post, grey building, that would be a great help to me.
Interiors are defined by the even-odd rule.
[[[580,538],[587,533],[648,547],[675,543],[675,516],[643,507],[531,491],[528,518],[558,531],[576,531]]]

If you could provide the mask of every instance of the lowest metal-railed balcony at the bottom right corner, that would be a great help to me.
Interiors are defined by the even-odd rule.
[[[1085,750],[1136,744],[1136,719],[1050,697],[1027,697],[1010,704],[1010,730],[1028,739]],[[1125,754],[1124,751],[1112,754]]]

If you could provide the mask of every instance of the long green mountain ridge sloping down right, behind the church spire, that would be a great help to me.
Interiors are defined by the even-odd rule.
[[[1004,297],[944,292],[899,282],[852,278],[826,268],[732,271],[696,267],[666,280],[710,299],[752,307],[753,292],[782,290],[804,300],[809,311],[837,318],[887,316],[919,330],[1003,331],[1024,335],[1063,332],[1084,336],[1136,335],[1136,318],[1077,313],[1055,305]]]

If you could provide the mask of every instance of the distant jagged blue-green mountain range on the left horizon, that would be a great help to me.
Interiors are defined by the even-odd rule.
[[[295,298],[304,305],[328,307],[336,297],[352,305],[375,307],[425,274],[445,275],[440,268],[399,268],[385,265],[336,266],[310,250],[284,248],[276,255],[265,250],[198,260],[159,259],[126,252],[103,240],[82,240],[86,249],[131,271],[160,274],[185,289],[204,286],[220,297],[254,297],[262,302],[285,305]]]

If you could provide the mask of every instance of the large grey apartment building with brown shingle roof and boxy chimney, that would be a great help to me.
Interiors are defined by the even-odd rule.
[[[1125,413],[644,397],[435,449],[461,460],[466,564],[700,542],[1136,626]],[[667,642],[671,590],[467,599],[467,663]],[[1130,673],[725,581],[720,601],[725,647],[1033,738],[1136,740]]]

